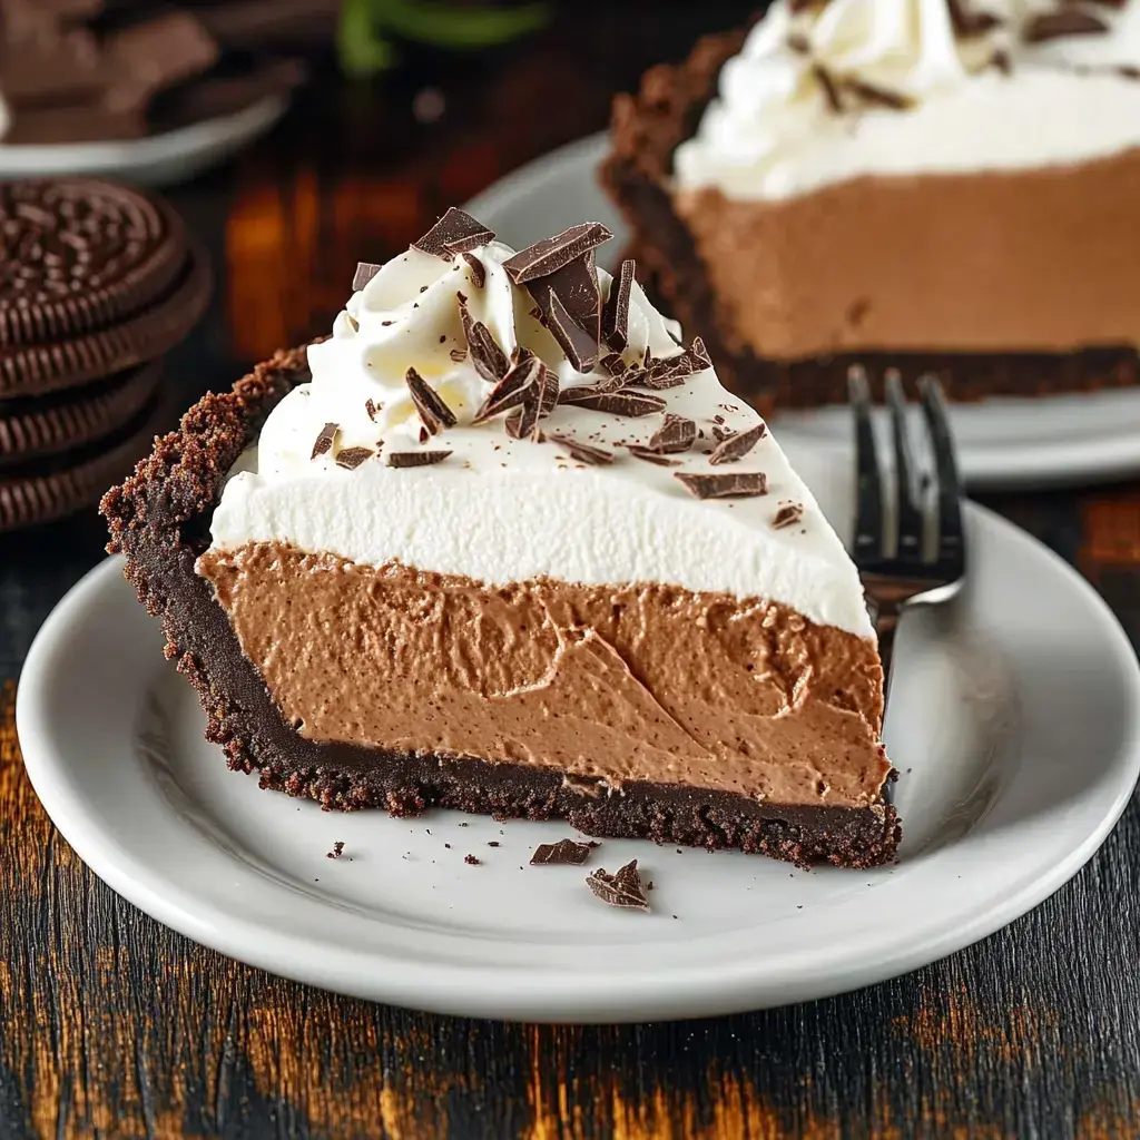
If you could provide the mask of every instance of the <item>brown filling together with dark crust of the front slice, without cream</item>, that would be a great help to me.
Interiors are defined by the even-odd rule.
[[[562,819],[800,865],[894,858],[878,661],[854,635],[758,602],[736,621],[738,600],[669,586],[498,589],[255,545],[202,559],[227,473],[309,378],[296,349],[206,396],[103,500],[108,548],[231,768],[328,808]],[[693,620],[716,636],[686,636]],[[381,636],[404,656],[376,650]],[[488,702],[497,720],[511,710],[510,732],[478,715]]]

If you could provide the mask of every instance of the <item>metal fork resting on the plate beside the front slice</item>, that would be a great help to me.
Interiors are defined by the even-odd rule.
[[[847,386],[855,413],[858,471],[855,565],[879,635],[886,687],[902,612],[909,605],[948,601],[962,586],[966,576],[962,484],[942,384],[935,376],[919,381],[933,455],[931,471],[920,478],[906,426],[902,381],[894,369],[886,375],[895,473],[889,483],[889,499],[885,499],[882,469],[871,427],[866,373],[861,367],[852,368]]]

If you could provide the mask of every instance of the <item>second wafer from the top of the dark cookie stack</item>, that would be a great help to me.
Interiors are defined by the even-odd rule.
[[[173,282],[114,324],[62,340],[0,348],[0,399],[89,383],[161,357],[205,312],[210,269],[205,253],[184,253]]]

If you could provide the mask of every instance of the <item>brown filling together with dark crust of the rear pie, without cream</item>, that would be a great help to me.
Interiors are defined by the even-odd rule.
[[[602,168],[632,229],[628,255],[705,339],[726,388],[769,412],[846,401],[855,364],[879,397],[889,368],[909,388],[935,373],[960,400],[1140,380],[1140,284],[1119,245],[1137,218],[1140,152],[1061,170],[863,178],[780,202],[677,194],[674,150],[744,34],[706,36],[619,96]]]

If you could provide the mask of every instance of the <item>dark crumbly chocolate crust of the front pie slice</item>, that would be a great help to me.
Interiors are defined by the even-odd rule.
[[[734,847],[799,865],[872,866],[895,857],[899,829],[890,805],[869,809],[784,808],[746,796],[659,783],[620,793],[556,771],[454,756],[315,743],[286,724],[242,653],[210,584],[194,569],[226,474],[272,407],[310,378],[304,349],[277,353],[222,396],[206,396],[177,432],[155,445],[100,510],[108,549],[162,619],[166,656],[198,692],[206,738],[231,768],[258,771],[261,785],[341,811],[383,807],[393,815],[450,807],[499,817],[563,819],[597,836]]]

